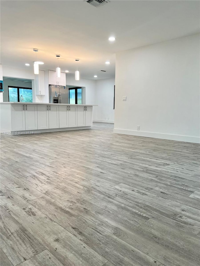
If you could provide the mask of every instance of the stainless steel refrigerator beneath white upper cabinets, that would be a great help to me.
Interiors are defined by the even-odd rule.
[[[68,104],[69,88],[65,86],[49,85],[49,103]]]

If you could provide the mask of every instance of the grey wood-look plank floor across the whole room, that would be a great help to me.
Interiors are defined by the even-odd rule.
[[[200,265],[199,145],[1,135],[1,266]]]

